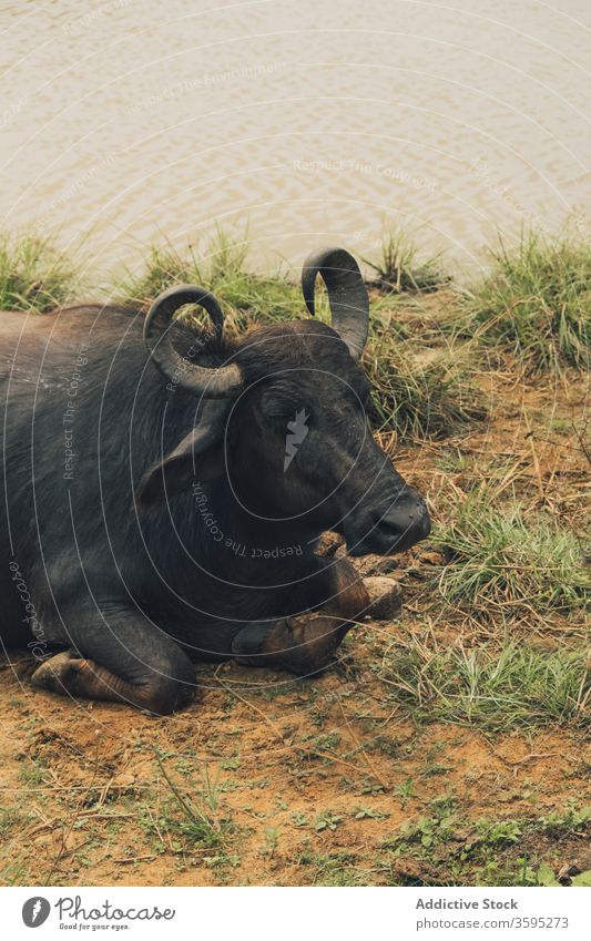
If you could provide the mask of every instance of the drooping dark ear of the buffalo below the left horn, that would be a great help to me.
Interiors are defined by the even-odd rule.
[[[196,427],[176,448],[143,474],[135,497],[139,503],[169,500],[187,490],[194,480],[213,480],[225,470],[224,418],[227,408],[207,403]]]

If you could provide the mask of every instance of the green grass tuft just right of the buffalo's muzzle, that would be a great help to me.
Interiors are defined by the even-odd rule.
[[[541,513],[498,510],[482,488],[450,508],[431,542],[449,559],[439,590],[450,603],[506,614],[591,608],[591,572],[577,538]]]

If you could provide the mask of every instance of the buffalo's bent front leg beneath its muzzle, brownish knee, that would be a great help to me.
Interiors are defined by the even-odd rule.
[[[317,570],[298,585],[297,607],[308,611],[272,621],[253,621],[234,637],[238,663],[287,669],[300,676],[335,662],[335,653],[369,597],[360,576],[343,559],[317,559]]]

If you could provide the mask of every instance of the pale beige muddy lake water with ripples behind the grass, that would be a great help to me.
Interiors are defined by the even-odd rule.
[[[262,268],[588,234],[588,0],[26,0],[0,31],[0,227],[99,268],[246,222]]]

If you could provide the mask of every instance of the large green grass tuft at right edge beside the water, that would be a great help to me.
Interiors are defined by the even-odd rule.
[[[591,346],[591,245],[522,235],[493,252],[491,274],[465,293],[452,318],[465,336],[519,357],[530,372],[588,369]]]

